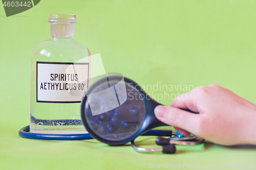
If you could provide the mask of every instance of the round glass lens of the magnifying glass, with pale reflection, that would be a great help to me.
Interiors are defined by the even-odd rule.
[[[117,80],[96,85],[88,95],[85,116],[89,128],[101,138],[129,138],[142,125],[145,103],[133,83]]]

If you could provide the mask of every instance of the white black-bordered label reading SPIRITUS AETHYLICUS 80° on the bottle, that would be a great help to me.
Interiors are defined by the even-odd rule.
[[[89,85],[89,63],[37,61],[36,69],[36,102],[81,102]]]

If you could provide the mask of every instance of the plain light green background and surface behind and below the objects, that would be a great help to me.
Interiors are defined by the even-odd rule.
[[[256,1],[237,0],[42,0],[30,10],[6,17],[0,7],[0,168],[147,169],[148,163],[217,167],[256,163],[256,148],[248,146],[207,142],[179,147],[175,155],[140,154],[129,144],[109,147],[96,140],[53,142],[18,136],[18,130],[29,124],[30,57],[33,48],[50,37],[48,14],[76,14],[74,39],[91,54],[101,54],[106,72],[120,72],[142,85],[216,83],[256,103],[255,9]]]

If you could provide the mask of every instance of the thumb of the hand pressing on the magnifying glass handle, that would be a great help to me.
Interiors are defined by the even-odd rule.
[[[159,105],[154,110],[156,117],[163,123],[190,133],[199,132],[200,114],[193,114],[172,106]]]

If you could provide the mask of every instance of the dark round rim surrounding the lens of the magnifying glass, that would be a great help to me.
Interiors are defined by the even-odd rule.
[[[109,80],[114,80],[114,79],[120,80],[120,76],[110,76],[110,77],[108,77],[108,78],[109,78]],[[110,78],[111,78],[111,79],[110,79]],[[141,87],[140,87],[136,82],[134,82],[134,81],[131,80],[131,79],[125,78],[125,77],[123,77],[123,79],[124,79],[124,82],[133,83],[134,86],[137,85],[136,87],[138,87],[138,88],[136,88],[136,87],[135,87],[135,88],[136,88],[140,93],[144,94],[144,96],[146,96],[146,93],[141,90]],[[105,80],[106,80],[106,78],[102,78],[102,79],[98,80],[97,82],[95,82],[94,85],[95,85],[95,84],[102,83],[102,81],[105,81]],[[102,138],[102,137],[100,137],[99,135],[97,135],[97,134],[90,128],[90,126],[89,126],[89,124],[88,124],[88,122],[87,122],[87,120],[86,120],[86,113],[85,113],[85,107],[86,107],[86,101],[87,101],[87,95],[86,95],[86,94],[87,94],[87,93],[90,93],[90,92],[94,89],[94,87],[93,87],[94,85],[92,85],[92,86],[90,86],[90,87],[88,88],[88,90],[86,91],[86,93],[84,93],[84,96],[83,96],[82,101],[81,101],[81,119],[82,119],[82,123],[83,123],[84,127],[86,128],[86,130],[88,131],[88,133],[89,133],[93,138],[95,138],[95,139],[97,139],[97,140],[99,140],[99,141],[101,141],[101,142],[103,142],[103,143],[110,144],[110,145],[123,145],[123,144],[125,144],[125,143],[127,143],[127,142],[132,141],[132,140],[135,139],[137,136],[139,136],[141,133],[146,132],[146,131],[144,131],[144,130],[147,129],[147,127],[148,127],[147,124],[149,124],[148,122],[145,122],[145,121],[144,121],[145,118],[146,118],[147,110],[148,110],[148,108],[147,108],[146,106],[152,106],[152,104],[147,103],[147,102],[150,102],[150,100],[145,100],[145,99],[144,99],[143,101],[144,101],[144,104],[145,104],[145,116],[144,116],[144,118],[143,118],[143,122],[142,122],[140,128],[139,128],[136,132],[134,132],[133,135],[131,135],[130,137],[128,137],[128,138],[126,138],[126,139],[115,140],[115,141],[114,141],[114,140],[108,140],[108,139]],[[148,96],[148,98],[149,98],[149,96]],[[147,99],[148,99],[148,98],[147,98]],[[151,99],[151,98],[150,98],[150,99]],[[154,100],[152,99],[151,101],[154,101]],[[154,102],[155,102],[155,101],[154,101]],[[150,108],[150,109],[153,109],[153,110],[154,110],[154,108]],[[153,113],[153,114],[154,114],[154,113]],[[142,129],[142,127],[143,127],[143,129]]]

